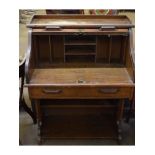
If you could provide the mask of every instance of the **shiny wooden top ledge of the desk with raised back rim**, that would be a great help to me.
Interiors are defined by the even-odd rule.
[[[102,26],[115,25],[132,27],[126,16],[105,15],[34,15],[28,27],[38,26]]]

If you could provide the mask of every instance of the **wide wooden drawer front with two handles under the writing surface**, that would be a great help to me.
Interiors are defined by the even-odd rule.
[[[132,87],[29,87],[34,99],[132,98]]]

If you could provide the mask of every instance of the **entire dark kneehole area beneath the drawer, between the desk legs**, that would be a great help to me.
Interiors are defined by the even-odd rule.
[[[42,139],[117,139],[118,100],[41,100]]]

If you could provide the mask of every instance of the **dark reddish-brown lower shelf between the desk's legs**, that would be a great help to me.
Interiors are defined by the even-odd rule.
[[[114,116],[53,115],[43,118],[42,138],[105,138],[117,139]]]

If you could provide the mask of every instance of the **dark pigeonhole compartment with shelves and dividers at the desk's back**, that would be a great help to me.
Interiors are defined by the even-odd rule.
[[[79,63],[125,65],[127,37],[116,35],[33,36],[37,67]],[[81,64],[80,64],[81,63]]]

